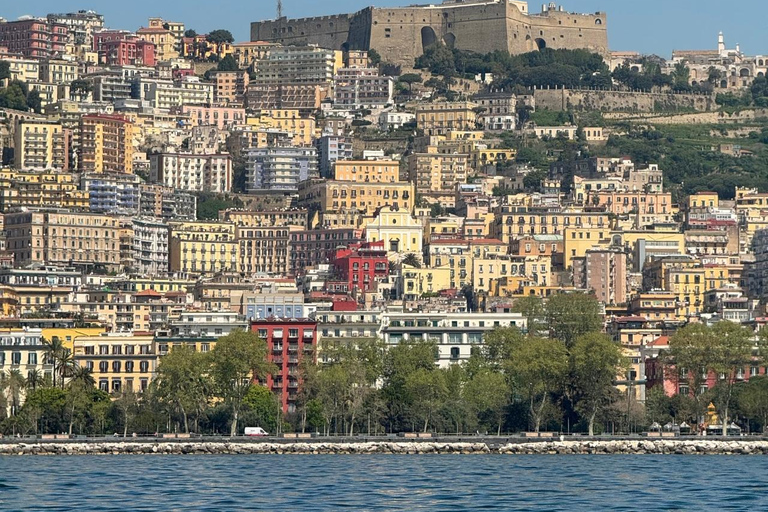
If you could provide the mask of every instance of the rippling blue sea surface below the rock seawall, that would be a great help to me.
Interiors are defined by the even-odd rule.
[[[0,457],[0,510],[767,510],[768,458]]]

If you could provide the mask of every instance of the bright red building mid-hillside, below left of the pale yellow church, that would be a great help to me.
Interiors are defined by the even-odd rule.
[[[348,284],[349,291],[373,291],[377,280],[389,275],[384,241],[352,244],[337,249],[333,266],[338,278]]]

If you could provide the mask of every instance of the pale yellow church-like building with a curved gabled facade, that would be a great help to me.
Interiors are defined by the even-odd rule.
[[[424,226],[414,219],[408,210],[393,210],[384,206],[372,220],[365,225],[368,242],[384,242],[384,249],[391,259],[398,255],[422,255]]]

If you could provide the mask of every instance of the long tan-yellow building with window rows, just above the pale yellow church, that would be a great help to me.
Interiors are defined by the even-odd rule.
[[[365,216],[390,206],[410,212],[414,206],[412,183],[356,183],[306,180],[299,183],[299,205],[310,212],[357,210]]]

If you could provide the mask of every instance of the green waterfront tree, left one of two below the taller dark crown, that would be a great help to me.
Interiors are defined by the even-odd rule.
[[[550,396],[562,389],[568,376],[568,353],[558,340],[531,338],[515,347],[510,371],[516,389],[527,398],[536,432]]]

